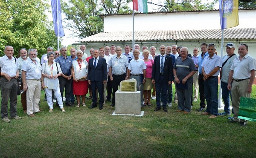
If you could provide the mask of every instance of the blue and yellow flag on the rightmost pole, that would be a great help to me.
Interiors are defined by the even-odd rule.
[[[221,29],[239,25],[238,0],[219,0]]]

